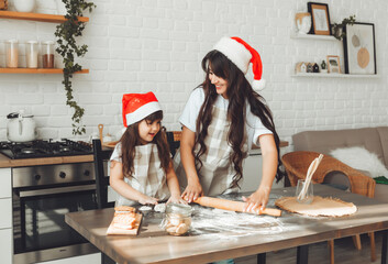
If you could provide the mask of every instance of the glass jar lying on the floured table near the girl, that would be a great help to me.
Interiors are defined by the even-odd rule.
[[[186,234],[191,226],[191,207],[182,204],[168,204],[162,228],[171,235]]]

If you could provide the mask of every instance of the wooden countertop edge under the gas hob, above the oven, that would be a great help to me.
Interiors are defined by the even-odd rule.
[[[65,163],[85,163],[93,162],[93,155],[60,156],[60,157],[40,157],[11,160],[0,154],[0,168],[2,167],[24,167],[36,165],[65,164]]]

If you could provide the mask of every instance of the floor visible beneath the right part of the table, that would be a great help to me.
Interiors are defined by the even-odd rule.
[[[362,250],[357,251],[352,238],[344,238],[334,241],[334,261],[336,264],[366,264],[380,263],[381,257],[381,233],[375,234],[377,261],[370,261],[370,243],[367,234],[362,234]],[[240,257],[236,264],[254,264],[256,256]],[[297,263],[297,249],[281,250],[267,253],[267,264],[291,264]],[[309,263],[326,264],[330,263],[328,242],[320,242],[309,246]]]

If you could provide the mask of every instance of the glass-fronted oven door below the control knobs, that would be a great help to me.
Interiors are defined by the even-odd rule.
[[[98,252],[65,222],[65,213],[91,209],[97,209],[95,184],[14,189],[14,263]]]

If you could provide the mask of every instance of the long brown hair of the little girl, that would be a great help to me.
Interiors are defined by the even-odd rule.
[[[163,119],[163,111],[156,111],[145,118],[147,122],[154,122],[155,120]],[[144,119],[143,119],[144,120]],[[135,146],[141,145],[141,140],[138,135],[138,123],[143,120],[129,125],[121,136],[121,160],[123,164],[123,174],[125,177],[133,177],[134,167],[133,161],[135,158]],[[169,169],[169,164],[171,161],[169,154],[169,147],[167,143],[166,130],[160,128],[160,131],[154,136],[152,143],[157,145],[158,156],[160,160],[160,167],[167,173]]]

